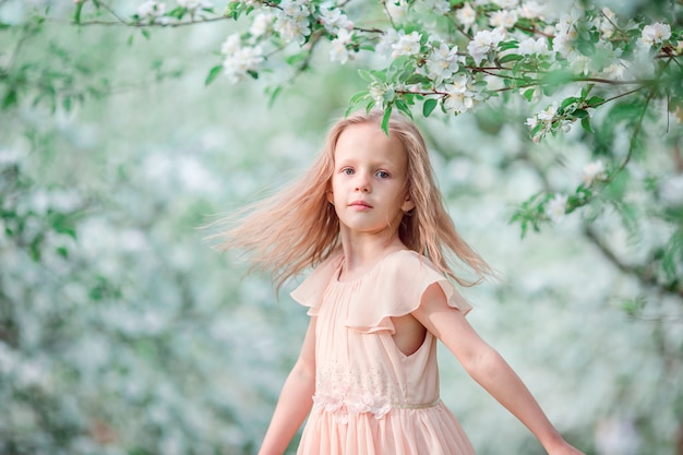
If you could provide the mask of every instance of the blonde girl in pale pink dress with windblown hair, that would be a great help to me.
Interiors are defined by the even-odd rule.
[[[448,217],[420,132],[393,117],[387,136],[381,121],[339,120],[301,180],[225,232],[221,248],[251,252],[278,287],[315,266],[291,294],[310,325],[260,455],[283,454],[307,416],[300,455],[474,454],[439,398],[436,339],[550,455],[580,455],[466,321],[451,279],[474,285],[491,268]]]

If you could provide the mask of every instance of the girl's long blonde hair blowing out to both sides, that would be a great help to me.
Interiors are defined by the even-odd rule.
[[[225,218],[229,227],[216,237],[219,250],[242,249],[253,266],[269,271],[279,288],[289,277],[323,262],[339,247],[339,220],[327,201],[334,171],[337,140],[348,127],[361,123],[381,127],[383,112],[357,112],[339,119],[327,133],[313,166],[299,180],[277,194],[251,204]],[[458,235],[433,177],[424,139],[408,119],[392,116],[390,135],[396,134],[408,158],[407,191],[415,208],[404,215],[398,236],[410,250],[426,255],[445,275],[463,286],[481,282],[493,271]],[[457,276],[448,265],[459,260],[477,279]]]

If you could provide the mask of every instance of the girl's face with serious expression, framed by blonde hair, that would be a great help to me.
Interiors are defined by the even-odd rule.
[[[347,127],[334,161],[327,200],[340,228],[350,234],[397,231],[404,213],[415,206],[406,191],[408,159],[397,135],[387,137],[374,123]]]

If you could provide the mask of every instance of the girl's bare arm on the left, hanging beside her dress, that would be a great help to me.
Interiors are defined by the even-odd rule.
[[[281,455],[313,405],[315,390],[315,321],[312,316],[299,359],[285,381],[259,455]]]

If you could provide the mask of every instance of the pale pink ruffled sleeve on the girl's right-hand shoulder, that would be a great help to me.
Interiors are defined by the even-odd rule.
[[[391,318],[418,309],[422,295],[434,283],[441,286],[450,307],[467,314],[471,306],[453,284],[415,251],[402,250],[385,258],[358,289],[349,309],[347,326],[362,333],[395,332]]]

